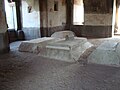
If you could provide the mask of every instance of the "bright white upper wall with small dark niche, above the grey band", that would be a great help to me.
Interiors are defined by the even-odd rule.
[[[31,3],[30,3],[31,1]],[[23,27],[40,27],[39,1],[29,2],[22,0]],[[30,12],[28,7],[31,6]]]

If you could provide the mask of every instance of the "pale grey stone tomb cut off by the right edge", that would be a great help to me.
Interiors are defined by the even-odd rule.
[[[89,63],[120,66],[120,43],[115,41],[103,42],[88,57]]]

